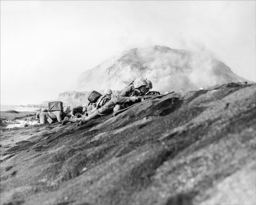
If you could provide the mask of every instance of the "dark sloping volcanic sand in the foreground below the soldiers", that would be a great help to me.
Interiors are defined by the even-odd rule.
[[[256,85],[118,114],[1,127],[1,204],[255,204]]]

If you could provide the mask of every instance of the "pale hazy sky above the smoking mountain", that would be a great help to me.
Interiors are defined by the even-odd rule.
[[[256,1],[0,3],[1,105],[57,99],[85,70],[154,45],[212,52],[256,81]]]

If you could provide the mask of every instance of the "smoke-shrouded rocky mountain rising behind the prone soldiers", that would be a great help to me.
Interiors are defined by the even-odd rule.
[[[85,71],[76,80],[76,90],[121,90],[137,77],[148,78],[153,89],[158,91],[198,90],[216,84],[247,81],[206,53],[155,45],[124,51]]]

